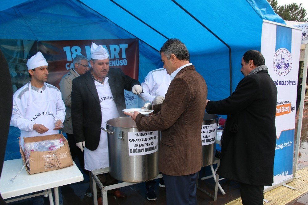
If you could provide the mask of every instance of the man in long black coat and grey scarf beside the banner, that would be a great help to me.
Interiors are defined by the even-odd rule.
[[[263,204],[263,186],[274,177],[277,88],[259,51],[247,51],[241,66],[245,77],[235,91],[207,100],[206,111],[227,115],[217,174],[240,183],[243,204]]]

